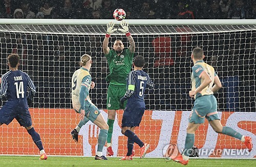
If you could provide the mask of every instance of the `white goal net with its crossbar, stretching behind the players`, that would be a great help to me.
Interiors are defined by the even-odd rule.
[[[2,20],[2,19],[1,19]],[[99,129],[92,123],[83,126],[78,143],[70,132],[79,122],[72,109],[71,77],[79,68],[80,56],[92,56],[91,99],[103,116],[109,72],[102,51],[106,23],[112,20],[0,20],[0,76],[8,71],[7,56],[20,55],[19,69],[34,81],[37,93],[30,106],[33,126],[50,155],[94,156]],[[247,22],[245,22],[247,21]],[[169,146],[184,148],[187,120],[193,106],[188,95],[191,88],[190,55],[202,47],[204,61],[217,71],[223,88],[214,95],[218,100],[223,126],[252,137],[256,143],[256,22],[255,20],[127,20],[136,49],[134,57],[143,55],[144,71],[154,80],[154,88],[145,91],[146,111],[135,131],[151,148],[148,157],[163,157]],[[223,23],[224,22],[224,23]],[[243,23],[244,22],[244,23]],[[195,24],[194,24],[195,23]],[[194,24],[194,25],[193,25]],[[116,22],[116,27],[120,27]],[[109,47],[124,34],[115,32]],[[1,104],[4,105],[5,99]],[[0,105],[1,105],[0,104]],[[122,110],[117,111],[113,132],[115,156],[126,154],[127,138],[121,134]],[[196,132],[199,157],[253,158],[239,140],[218,134],[205,121]],[[104,147],[105,154],[106,148]],[[136,156],[139,147],[135,144]],[[0,127],[0,154],[37,155],[38,149],[26,129],[16,120]]]

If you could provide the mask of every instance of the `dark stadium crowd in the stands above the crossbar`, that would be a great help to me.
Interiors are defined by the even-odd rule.
[[[253,0],[4,0],[0,18],[112,19],[115,9],[126,19],[255,19]]]

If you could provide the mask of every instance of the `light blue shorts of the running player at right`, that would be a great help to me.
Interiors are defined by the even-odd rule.
[[[196,98],[189,115],[189,122],[202,124],[205,118],[208,121],[220,120],[217,112],[217,100],[214,95],[204,95]]]

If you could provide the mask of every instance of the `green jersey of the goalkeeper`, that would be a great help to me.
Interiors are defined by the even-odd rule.
[[[106,76],[106,80],[117,86],[126,85],[126,78],[133,64],[133,53],[129,49],[123,49],[123,52],[118,56],[115,50],[110,50],[105,57],[110,69],[110,74]]]

